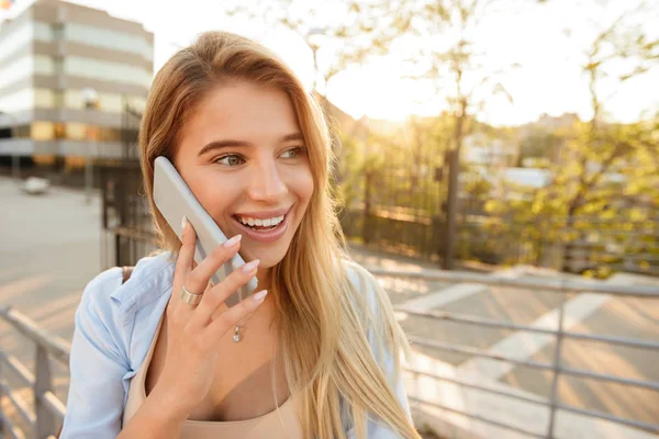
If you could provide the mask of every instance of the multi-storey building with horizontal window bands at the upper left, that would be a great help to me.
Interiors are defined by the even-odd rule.
[[[124,156],[126,105],[144,108],[153,54],[139,23],[59,0],[3,22],[0,160],[68,171]]]

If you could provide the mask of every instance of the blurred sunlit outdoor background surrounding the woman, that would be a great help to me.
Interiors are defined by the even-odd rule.
[[[656,0],[0,0],[0,437],[56,431],[83,286],[156,248],[137,130],[208,30],[323,105],[424,435],[659,435]]]

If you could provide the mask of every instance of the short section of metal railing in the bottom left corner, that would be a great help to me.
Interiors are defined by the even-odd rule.
[[[40,328],[32,319],[11,307],[0,308],[0,318],[34,341],[36,348],[35,374],[15,357],[0,350],[0,434],[3,432],[12,439],[25,438],[25,434],[1,409],[2,398],[7,397],[31,428],[35,439],[55,439],[57,428],[64,420],[66,406],[53,392],[49,358],[68,368],[70,345]],[[10,389],[9,381],[3,376],[4,370],[11,372],[22,385],[32,389],[34,410],[16,391]]]

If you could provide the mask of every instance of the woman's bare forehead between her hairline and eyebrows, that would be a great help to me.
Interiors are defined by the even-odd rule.
[[[292,102],[284,91],[235,82],[206,93],[183,126],[179,147],[197,150],[222,139],[258,145],[299,131]]]

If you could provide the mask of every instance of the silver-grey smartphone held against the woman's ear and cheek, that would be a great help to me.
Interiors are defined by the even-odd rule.
[[[157,157],[154,164],[154,201],[167,223],[181,239],[181,218],[186,216],[197,233],[197,249],[194,260],[200,263],[213,249],[226,241],[226,236],[220,229],[212,216],[203,209],[182,177],[178,173],[171,161],[166,157]],[[224,263],[211,278],[211,283],[216,285],[232,271],[243,266],[245,261],[241,255]],[[247,284],[241,286],[224,303],[233,306],[252,294],[257,288],[254,277]]]

